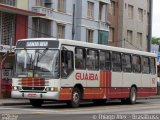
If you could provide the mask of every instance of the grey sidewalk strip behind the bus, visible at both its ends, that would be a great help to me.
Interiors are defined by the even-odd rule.
[[[160,99],[160,95],[150,96],[147,99]],[[29,105],[30,102],[27,99],[0,99],[0,106],[10,106],[10,105]]]

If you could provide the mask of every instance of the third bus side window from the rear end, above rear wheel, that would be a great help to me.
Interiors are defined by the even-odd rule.
[[[141,73],[141,59],[140,56],[132,56],[132,71],[134,73]]]

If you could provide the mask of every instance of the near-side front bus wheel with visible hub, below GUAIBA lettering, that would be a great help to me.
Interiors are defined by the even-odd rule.
[[[80,90],[76,87],[72,92],[72,99],[67,102],[69,107],[78,108],[80,104],[81,94]]]

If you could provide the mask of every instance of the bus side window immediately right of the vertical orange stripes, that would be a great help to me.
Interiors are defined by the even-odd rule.
[[[112,53],[112,70],[115,72],[122,71],[121,53],[118,52]]]

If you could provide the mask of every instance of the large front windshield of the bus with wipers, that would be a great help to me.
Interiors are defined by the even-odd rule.
[[[15,77],[59,78],[59,50],[16,50]]]

